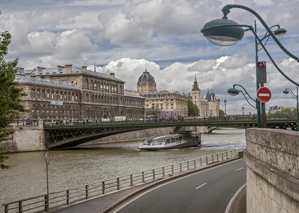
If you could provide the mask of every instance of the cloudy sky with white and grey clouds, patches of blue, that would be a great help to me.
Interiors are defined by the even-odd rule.
[[[227,101],[227,113],[253,112],[242,95],[229,96],[233,84],[243,85],[255,97],[255,45],[251,32],[230,47],[215,46],[200,33],[203,25],[222,17],[228,3],[256,10],[269,26],[287,29],[282,44],[299,55],[299,0],[0,0],[0,31],[12,35],[9,55],[18,66],[53,68],[73,64],[81,67],[96,62],[97,72],[116,73],[126,89],[136,90],[145,70],[154,76],[158,90],[189,93],[194,74],[206,95],[214,88],[220,108]],[[255,17],[242,9],[231,9],[228,18],[253,25]],[[257,21],[258,35],[266,33]],[[274,28],[276,29],[276,28]],[[267,49],[279,67],[299,82],[299,63],[291,60],[269,39]],[[296,106],[286,88],[296,86],[271,64],[263,50],[259,60],[267,62],[272,91],[269,106]],[[254,104],[254,103],[253,103]]]

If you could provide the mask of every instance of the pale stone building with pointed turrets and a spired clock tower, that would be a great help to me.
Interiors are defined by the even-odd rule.
[[[192,94],[189,94],[188,99],[191,99],[192,102],[198,107],[199,116],[219,116],[219,104],[217,102],[219,99],[215,96],[214,90],[211,90],[210,92],[208,89],[207,95],[202,96],[195,76],[191,91]]]

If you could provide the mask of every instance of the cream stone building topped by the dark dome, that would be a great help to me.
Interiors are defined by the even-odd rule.
[[[177,117],[188,116],[187,97],[178,92],[166,90],[157,92],[154,77],[146,71],[139,77],[137,91],[127,91],[144,97],[146,111],[155,108],[160,111],[160,116]]]

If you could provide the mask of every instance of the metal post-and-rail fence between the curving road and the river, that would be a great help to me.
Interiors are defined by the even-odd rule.
[[[238,153],[241,151],[243,151],[243,149],[220,152],[142,172],[97,181],[59,192],[52,192],[49,193],[49,197],[44,194],[33,198],[6,203],[2,206],[4,207],[4,213],[15,213],[15,211],[17,211],[17,213],[31,213],[42,210],[48,211],[50,207],[53,208],[59,205],[69,205],[75,201],[86,200],[91,197],[104,195],[111,191],[120,190],[126,187],[133,187],[138,184],[160,179],[167,175],[173,175],[175,173],[185,172],[230,158],[235,158],[239,156]]]

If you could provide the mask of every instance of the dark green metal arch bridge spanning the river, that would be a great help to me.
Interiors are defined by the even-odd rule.
[[[210,128],[227,127],[245,129],[257,127],[257,120],[252,120],[251,117],[239,117],[237,120],[216,117],[178,120],[151,119],[81,123],[69,122],[61,124],[45,123],[45,147],[47,149],[72,147],[110,135],[149,128],[175,127],[173,133],[177,133],[182,126],[207,126]],[[294,118],[288,119],[286,116],[268,116],[267,128],[297,130],[297,120]]]

